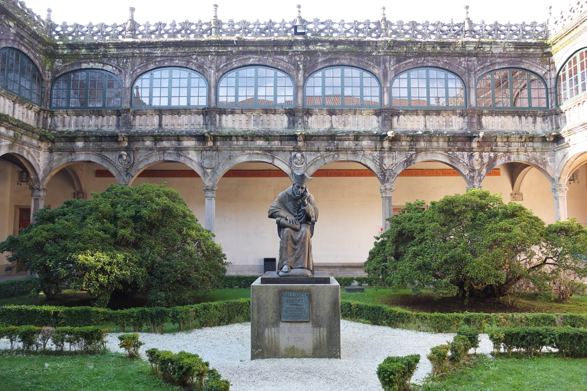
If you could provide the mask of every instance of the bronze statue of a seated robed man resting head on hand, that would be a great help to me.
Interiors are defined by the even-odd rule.
[[[275,218],[281,238],[277,271],[281,277],[312,275],[312,235],[318,208],[308,193],[311,179],[305,173],[293,173],[292,186],[279,193],[269,207],[269,218]]]

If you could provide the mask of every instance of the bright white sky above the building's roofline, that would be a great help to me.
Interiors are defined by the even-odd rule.
[[[44,19],[46,9],[52,9],[52,20],[56,23],[74,22],[94,24],[114,22],[122,24],[129,18],[129,7],[134,6],[134,19],[139,22],[167,22],[172,20],[209,21],[212,5],[218,4],[218,18],[222,21],[235,19],[261,22],[291,21],[297,16],[296,5],[302,5],[302,17],[307,20],[318,18],[339,21],[371,21],[381,16],[382,6],[386,7],[389,21],[461,21],[465,17],[464,5],[468,4],[469,17],[473,22],[542,22],[548,18],[548,6],[552,16],[560,15],[562,8],[568,8],[568,0],[418,0],[398,2],[389,0],[315,0],[304,4],[302,0],[211,0],[211,1],[161,1],[161,0],[26,0],[26,6]],[[414,4],[416,4],[414,6]]]

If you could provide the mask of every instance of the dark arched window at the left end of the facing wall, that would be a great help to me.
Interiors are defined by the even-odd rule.
[[[55,79],[51,88],[52,109],[116,109],[120,106],[122,83],[106,70],[73,70]]]

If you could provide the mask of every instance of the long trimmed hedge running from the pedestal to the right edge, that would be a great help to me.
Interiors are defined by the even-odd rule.
[[[481,332],[497,327],[583,327],[587,328],[585,314],[439,314],[437,312],[411,312],[386,305],[340,302],[343,318],[367,321],[374,325],[433,332],[456,332],[461,323]]]

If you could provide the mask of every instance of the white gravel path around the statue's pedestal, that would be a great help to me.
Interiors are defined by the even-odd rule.
[[[108,347],[118,348],[119,333],[111,333]],[[426,333],[340,321],[341,359],[251,360],[251,323],[195,329],[175,334],[140,333],[149,348],[197,353],[222,377],[230,379],[231,391],[328,391],[382,390],[375,371],[387,356],[418,353],[420,364],[412,382],[429,375],[426,355],[432,346],[451,341],[453,333]],[[480,335],[478,353],[491,352],[491,341]]]

